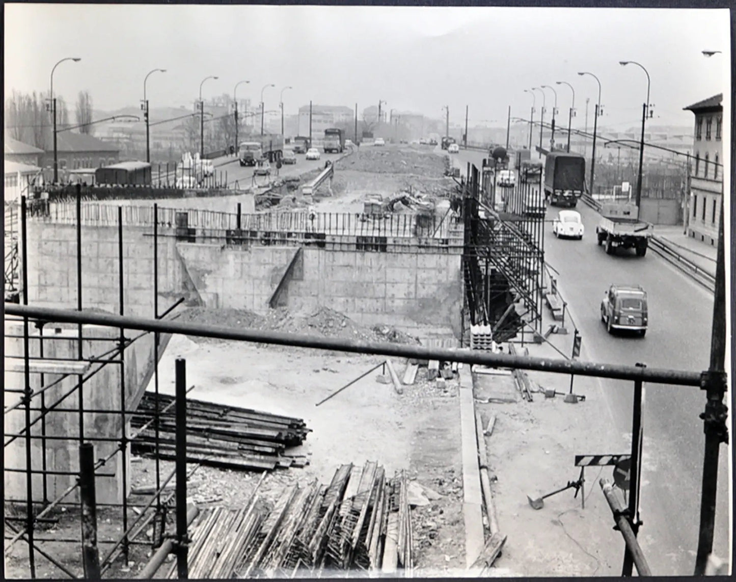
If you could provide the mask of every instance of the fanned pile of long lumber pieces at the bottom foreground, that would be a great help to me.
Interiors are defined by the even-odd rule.
[[[200,511],[190,527],[189,578],[314,578],[329,571],[411,573],[411,520],[403,471],[340,466],[330,485],[291,485],[269,510]],[[176,576],[172,564],[168,578]]]

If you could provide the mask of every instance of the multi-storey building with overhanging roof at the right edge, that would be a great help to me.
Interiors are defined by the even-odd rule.
[[[723,201],[723,94],[684,108],[695,114],[695,150],[686,200],[687,236],[709,245],[718,241]]]

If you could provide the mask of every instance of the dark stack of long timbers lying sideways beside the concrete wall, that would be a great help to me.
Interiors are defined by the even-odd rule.
[[[158,410],[174,401],[159,394]],[[156,414],[156,396],[144,393],[133,429],[140,429]],[[187,461],[222,469],[244,471],[288,469],[308,464],[303,455],[289,455],[288,447],[302,444],[311,429],[301,418],[187,399]],[[158,457],[176,458],[176,418],[174,407],[158,413]],[[134,455],[156,455],[155,423],[149,424],[132,441]]]

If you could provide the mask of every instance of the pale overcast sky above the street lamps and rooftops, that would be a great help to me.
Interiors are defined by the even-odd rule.
[[[576,122],[590,119],[598,97],[591,71],[603,86],[602,125],[637,125],[651,75],[656,125],[689,125],[682,108],[723,92],[730,94],[727,10],[592,9],[513,7],[311,7],[114,4],[5,4],[5,91],[54,91],[70,110],[80,90],[95,109],[138,106],[149,77],[151,107],[191,107],[199,83],[203,97],[233,94],[277,108],[284,92],[287,114],[311,99],[320,105],[358,102],[415,111],[470,125],[512,116],[528,119],[525,88],[552,85],[559,116],[567,123],[570,88],[576,90]],[[704,49],[723,55],[706,58]],[[545,90],[548,116],[552,91]],[[537,91],[537,119],[542,97]],[[73,111],[73,110],[72,110]],[[70,111],[71,112],[71,111]]]

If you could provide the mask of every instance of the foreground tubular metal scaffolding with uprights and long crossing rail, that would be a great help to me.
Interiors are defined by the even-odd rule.
[[[478,241],[478,231],[473,231],[475,225],[480,224],[478,220],[478,194],[479,194],[479,183],[478,183],[478,172],[475,169],[473,174],[470,174],[470,186],[466,186],[466,193],[473,193],[474,195],[467,195],[464,197],[464,211],[470,209],[474,212],[475,220],[468,220],[467,214],[465,215],[466,225],[466,239],[465,242],[468,244],[474,241]],[[79,192],[79,190],[77,191]],[[79,214],[79,205],[81,197],[77,197],[77,217]],[[146,575],[154,575],[158,566],[163,562],[168,553],[175,553],[177,555],[177,572],[179,578],[186,578],[188,575],[188,563],[187,563],[187,525],[194,519],[194,513],[196,510],[187,508],[186,506],[186,486],[188,474],[186,473],[186,446],[187,439],[185,434],[185,400],[187,390],[185,389],[185,362],[183,360],[177,360],[176,362],[176,396],[169,406],[175,407],[175,415],[177,418],[177,430],[176,437],[176,462],[174,471],[170,474],[162,477],[160,475],[160,466],[158,459],[156,460],[156,487],[155,493],[152,497],[149,497],[146,504],[139,506],[141,507],[141,513],[132,519],[132,522],[128,522],[129,516],[127,515],[128,508],[132,507],[127,501],[125,494],[120,504],[109,504],[115,507],[120,507],[122,516],[122,533],[121,536],[116,540],[105,540],[112,544],[110,550],[102,558],[99,558],[99,544],[104,543],[102,540],[97,539],[96,531],[96,508],[98,505],[102,505],[96,502],[95,494],[95,477],[100,477],[103,474],[99,473],[99,469],[102,469],[110,459],[116,455],[127,455],[127,444],[133,441],[138,433],[127,435],[125,431],[124,420],[128,416],[136,414],[135,410],[127,410],[124,393],[124,376],[121,374],[120,390],[121,390],[121,406],[118,410],[102,410],[105,413],[111,413],[119,415],[121,418],[121,434],[116,438],[95,438],[85,432],[83,424],[84,414],[93,412],[94,409],[91,407],[85,407],[85,403],[82,402],[82,386],[87,382],[94,374],[97,374],[100,369],[104,368],[107,364],[120,365],[123,368],[125,359],[124,351],[129,348],[130,345],[144,335],[153,333],[155,334],[154,343],[154,386],[158,396],[158,339],[160,334],[186,334],[199,337],[210,337],[222,340],[238,340],[251,343],[266,343],[269,345],[278,346],[295,346],[303,348],[317,348],[326,349],[330,351],[350,352],[357,354],[380,354],[383,356],[392,357],[406,357],[414,358],[418,360],[441,360],[448,362],[464,362],[466,364],[479,364],[487,365],[493,368],[513,368],[520,370],[534,370],[534,371],[545,371],[557,374],[575,374],[578,376],[591,376],[598,378],[607,379],[623,379],[634,383],[634,414],[632,415],[632,433],[638,433],[639,438],[632,438],[631,444],[631,475],[630,481],[632,483],[632,491],[629,496],[628,508],[623,508],[620,501],[615,498],[615,492],[611,491],[608,484],[601,483],[601,488],[604,489],[606,500],[609,502],[612,508],[612,515],[615,518],[618,526],[620,527],[624,541],[626,542],[626,556],[623,561],[622,575],[630,576],[632,568],[637,567],[637,571],[640,575],[645,575],[649,572],[648,565],[645,562],[645,558],[641,551],[641,548],[637,542],[637,533],[642,525],[638,516],[638,498],[639,498],[639,485],[640,485],[640,460],[642,458],[642,432],[640,418],[637,416],[640,414],[640,406],[637,406],[636,399],[640,398],[641,390],[645,382],[648,383],[659,383],[666,385],[678,385],[687,386],[691,388],[698,388],[704,390],[706,393],[707,402],[705,405],[704,413],[699,414],[697,410],[693,410],[693,421],[696,421],[696,415],[699,414],[699,418],[703,420],[704,432],[706,435],[705,452],[704,452],[704,464],[703,464],[703,485],[701,491],[701,521],[699,526],[699,539],[698,539],[698,551],[696,558],[696,574],[703,574],[707,567],[708,559],[712,553],[712,543],[714,534],[715,524],[715,499],[716,499],[716,485],[718,482],[718,452],[721,443],[728,442],[728,430],[726,425],[727,419],[727,407],[723,403],[723,399],[727,390],[726,383],[726,371],[724,369],[725,363],[725,351],[726,351],[726,295],[725,295],[725,262],[723,252],[723,213],[721,213],[720,222],[720,233],[719,245],[718,245],[718,264],[716,270],[716,283],[715,283],[715,302],[713,308],[713,319],[712,319],[712,340],[711,340],[711,359],[710,367],[707,371],[680,371],[680,370],[668,370],[668,369],[657,369],[647,368],[644,365],[629,366],[629,365],[618,365],[618,364],[605,364],[596,362],[580,362],[577,360],[554,360],[550,358],[539,358],[539,357],[528,357],[528,356],[517,356],[512,354],[492,354],[485,351],[473,351],[462,348],[423,348],[422,346],[408,346],[393,343],[367,343],[357,340],[341,340],[328,337],[313,337],[304,336],[297,334],[287,334],[283,332],[266,332],[252,329],[231,329],[224,326],[212,326],[198,323],[181,323],[171,319],[166,319],[166,315],[174,309],[175,306],[180,304],[180,300],[174,306],[167,309],[166,312],[161,314],[158,313],[158,220],[154,221],[153,224],[153,235],[154,235],[154,273],[153,273],[153,291],[154,291],[154,313],[153,318],[139,318],[131,317],[124,314],[124,293],[123,293],[123,275],[124,275],[124,252],[123,252],[123,228],[122,220],[119,219],[121,216],[121,210],[118,209],[118,275],[120,279],[119,283],[119,309],[118,315],[109,313],[89,312],[83,310],[82,301],[82,230],[81,222],[77,220],[77,309],[51,309],[36,306],[29,306],[28,304],[28,267],[26,264],[27,257],[27,233],[26,233],[26,201],[25,198],[21,200],[21,274],[22,274],[22,304],[9,304],[5,309],[5,318],[16,318],[23,323],[23,360],[24,360],[24,389],[18,390],[21,394],[21,399],[18,404],[12,407],[6,407],[6,414],[12,408],[13,410],[23,408],[25,425],[24,428],[13,435],[6,435],[11,440],[18,438],[24,438],[26,443],[26,466],[21,469],[26,475],[26,499],[6,499],[6,508],[8,502],[21,503],[25,506],[26,514],[22,517],[24,525],[22,527],[16,527],[15,532],[11,536],[6,535],[5,554],[9,553],[17,541],[24,541],[28,547],[28,560],[31,578],[37,578],[35,558],[36,555],[43,556],[49,562],[59,567],[59,569],[66,573],[70,578],[76,578],[77,575],[71,572],[64,564],[60,564],[53,555],[40,547],[44,541],[51,541],[45,539],[36,534],[38,526],[42,525],[47,521],[49,513],[54,507],[59,505],[77,505],[81,508],[81,519],[82,528],[79,539],[68,539],[60,540],[54,539],[55,542],[68,541],[68,543],[80,544],[82,565],[84,567],[85,577],[87,578],[100,578],[110,569],[113,561],[118,555],[124,555],[127,559],[127,552],[131,544],[151,544],[153,547],[158,547],[158,551],[152,556],[151,561],[144,569]],[[155,214],[158,212],[155,207]],[[522,221],[523,222],[523,221]],[[534,227],[534,221],[529,221],[531,227]],[[534,230],[521,231],[526,232],[526,236],[530,236],[534,240]],[[475,238],[474,238],[475,237]],[[477,257],[475,254],[470,254],[474,258]],[[528,262],[534,262],[539,260],[539,256],[526,257],[524,259]],[[536,280],[535,280],[536,281]],[[528,286],[532,287],[535,284],[534,281],[528,281]],[[20,319],[18,319],[20,318]],[[30,326],[34,323],[38,327],[42,327],[47,323],[71,323],[76,324],[77,334],[77,362],[89,362],[91,365],[99,365],[99,368],[89,372],[88,374],[77,373],[77,384],[74,385],[71,390],[68,390],[65,396],[58,399],[56,402],[51,404],[45,400],[46,391],[52,386],[41,384],[40,388],[35,389],[32,387],[31,377],[31,362],[34,360],[30,355],[30,342],[36,340],[36,337],[32,337],[30,334]],[[85,324],[95,326],[107,326],[119,331],[117,346],[112,350],[107,351],[105,354],[88,358],[85,360],[82,351],[82,340],[91,340],[93,337],[84,337],[82,334],[82,326]],[[140,332],[135,334],[134,337],[127,337],[126,332]],[[43,336],[40,336],[43,337]],[[108,338],[100,338],[109,341]],[[68,376],[69,374],[67,374]],[[74,375],[72,373],[71,375]],[[59,382],[58,380],[56,382]],[[605,388],[605,387],[604,387]],[[62,408],[60,404],[66,399],[71,393],[79,393],[79,406],[77,408],[68,407]],[[638,396],[637,396],[638,395]],[[40,399],[39,399],[40,397]],[[32,406],[32,402],[39,402],[39,406]],[[58,438],[63,438],[68,441],[79,443],[79,471],[51,471],[46,468],[44,464],[43,469],[40,471],[32,468],[31,460],[31,441],[33,439],[40,439],[42,443],[46,443],[53,437],[52,435],[46,434],[46,416],[52,410],[59,410],[65,413],[77,413],[79,415],[79,433],[74,435],[60,435]],[[156,447],[158,449],[158,418],[160,414],[165,412],[165,408],[162,410],[155,410],[152,418],[146,423],[146,426],[150,424],[154,425],[156,431]],[[638,412],[637,412],[638,410]],[[40,413],[40,415],[32,419],[32,412]],[[31,428],[39,424],[40,422],[40,434],[32,435]],[[94,461],[94,446],[93,443],[102,440],[112,440],[117,444],[116,449],[103,457],[102,459]],[[8,445],[6,441],[6,445]],[[43,444],[42,446],[46,446]],[[44,455],[45,456],[45,455]],[[158,457],[158,455],[157,455]],[[124,466],[124,463],[123,463]],[[195,467],[194,470],[197,470]],[[7,471],[7,469],[6,469]],[[33,481],[32,476],[34,474],[42,474],[51,476],[52,474],[75,474],[78,476],[76,483],[67,488],[60,496],[55,499],[49,500],[48,495],[44,493],[43,502],[34,501]],[[193,471],[192,471],[193,472]],[[190,473],[191,475],[191,473]],[[176,477],[176,485],[174,492],[168,494],[166,498],[163,498],[163,492],[166,488],[167,483]],[[128,479],[128,475],[125,471],[121,474],[123,481]],[[127,491],[127,483],[123,483],[123,491]],[[79,488],[80,491],[80,502],[68,503],[64,502],[64,499]],[[141,534],[146,525],[148,525],[153,519],[158,519],[165,513],[165,509],[169,506],[171,500],[174,500],[174,511],[176,515],[176,527],[175,533],[171,533],[166,536],[163,532],[163,527],[160,530],[158,536],[154,536],[153,541],[138,541],[138,536]],[[151,509],[153,511],[149,512]],[[189,509],[189,511],[188,511]],[[7,519],[6,524],[12,522],[12,519]],[[163,524],[165,525],[165,524]],[[687,527],[687,525],[681,525],[679,527]],[[166,539],[165,539],[166,538]]]

